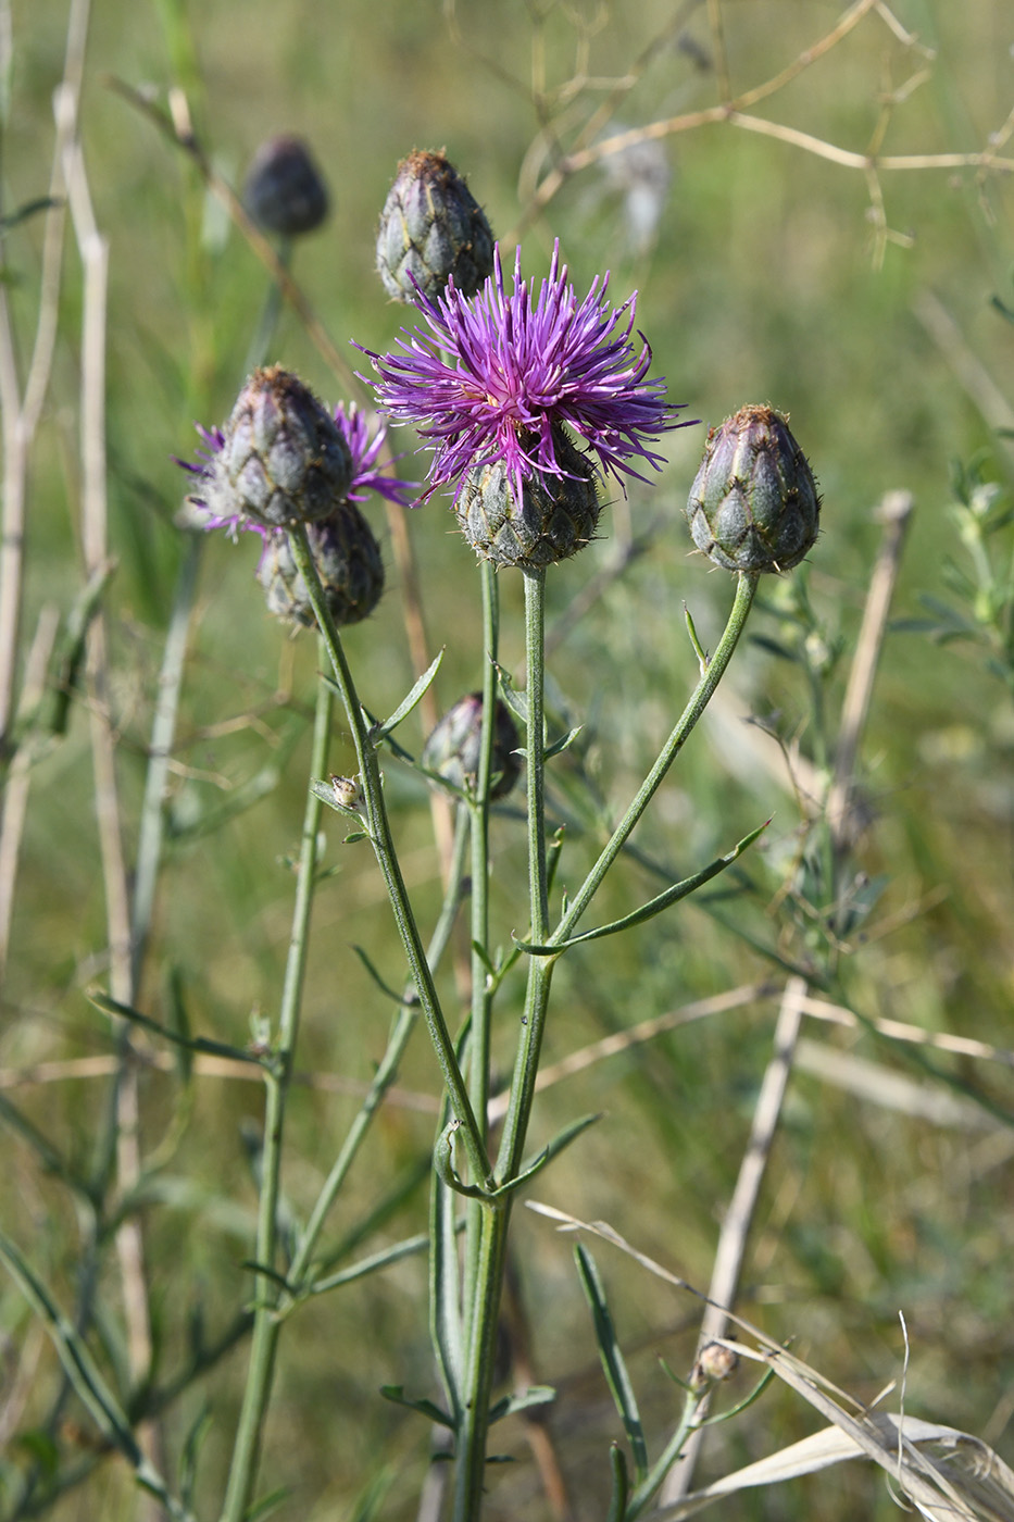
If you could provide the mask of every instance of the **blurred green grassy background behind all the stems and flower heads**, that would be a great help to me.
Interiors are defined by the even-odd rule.
[[[551,123],[568,145],[646,49],[649,62],[636,84],[617,91],[614,122],[638,126],[714,103],[714,9],[681,11],[656,0],[601,11],[463,0],[451,24],[448,8],[435,0],[411,6],[212,0],[193,8],[190,18],[172,0],[96,8],[82,143],[96,219],[110,240],[107,405],[119,565],[107,607],[128,855],[161,639],[184,552],[172,527],[181,486],[171,457],[192,452],[193,419],[210,423],[228,412],[266,277],[221,210],[206,201],[184,155],[108,87],[107,76],[151,85],[157,99],[164,99],[167,85],[181,85],[202,142],[234,183],[263,137],[305,134],[324,166],[335,210],[326,230],[298,248],[297,277],[343,352],[349,339],[384,349],[403,312],[382,297],[373,237],[397,160],[416,146],[446,148],[510,242],[525,212],[519,175],[540,123]],[[776,75],[839,14],[824,0],[729,0],[720,9],[734,91]],[[932,58],[906,47],[869,14],[757,113],[862,152],[885,96],[926,70],[897,107],[885,151],[982,149],[1014,103],[1009,6],[898,0],[894,14]],[[653,46],[674,17],[682,29]],[[50,97],[62,70],[65,20],[62,0],[12,8],[6,209],[46,192]],[[586,78],[565,94],[579,68]],[[837,651],[818,683],[825,723],[801,664],[760,645],[738,659],[731,688],[740,711],[766,715],[783,737],[799,737],[804,752],[819,756],[822,740],[834,737],[880,534],[872,517],[878,499],[903,487],[917,501],[895,600],[895,615],[912,618],[923,612],[923,594],[945,595],[945,562],[962,556],[950,516],[953,460],[985,451],[987,473],[1009,489],[1009,440],[991,432],[953,356],[941,352],[918,314],[932,294],[953,317],[967,353],[1011,396],[1014,330],[990,304],[993,295],[1012,295],[1011,181],[994,177],[977,184],[971,169],[885,172],[888,227],[903,237],[888,240],[880,259],[866,180],[854,169],[728,123],[670,137],[665,152],[671,186],[650,250],[632,250],[623,196],[592,166],[566,181],[527,230],[525,271],[542,272],[559,237],[579,291],[603,268],[611,268],[618,298],[636,286],[638,326],[652,341],[670,394],[688,402],[691,416],[714,423],[754,400],[792,414],[825,498],[824,533],[804,574],[815,619],[810,650],[824,641]],[[38,304],[40,242],[37,218],[11,233],[6,245],[21,356]],[[81,300],[78,256],[69,247],[53,380],[32,458],[26,632],[44,604],[65,610],[81,583]],[[355,350],[349,355],[355,365]],[[330,400],[344,394],[291,315],[273,358]],[[671,435],[670,464],[658,484],[650,492],[635,487],[629,508],[615,504],[615,534],[623,537],[627,517],[635,533],[652,524],[650,551],[569,629],[554,659],[560,706],[569,721],[588,726],[579,753],[556,772],[556,807],[572,816],[563,869],[571,883],[580,880],[591,852],[580,799],[594,788],[606,810],[623,807],[693,683],[684,600],[705,639],[720,627],[728,581],[688,557],[681,511],[702,440],[702,428]],[[403,469],[411,473],[411,461]],[[603,542],[551,577],[557,616],[609,563],[607,514],[603,525]],[[470,556],[451,530],[440,501],[411,521],[431,644],[448,645],[445,703],[477,685],[480,656],[478,586],[467,575]],[[288,641],[265,615],[251,583],[254,560],[250,545],[216,539],[204,548],[167,802],[172,846],[139,995],[140,1008],[166,1018],[166,991],[175,979],[192,1027],[241,1044],[251,1009],[271,1012],[279,995],[292,896],[286,860],[301,816],[315,670],[312,641]],[[516,665],[519,578],[504,575],[501,595],[504,664]],[[792,642],[801,627],[792,597],[790,587],[772,591],[752,630]],[[379,613],[349,638],[359,689],[376,711],[390,709],[413,677],[399,601],[391,578]],[[888,639],[862,759],[871,825],[856,854],[856,869],[882,893],[839,957],[805,922],[793,893],[784,892],[786,884],[798,886],[799,810],[784,776],[761,764],[754,735],[728,717],[705,726],[659,798],[643,842],[685,872],[773,813],[764,848],[738,878],[740,893],[720,906],[690,903],[565,963],[548,1059],[764,976],[772,962],[758,942],[804,962],[815,977],[833,977],[837,997],[863,1015],[1008,1044],[1014,723],[1009,691],[990,674],[982,651],[941,647],[915,632],[898,630]],[[234,808],[251,779],[269,769],[265,796]],[[341,740],[333,769],[350,770]],[[387,785],[407,875],[428,925],[438,887],[425,794],[393,764]],[[341,846],[341,831],[332,826],[329,834],[327,860],[338,871],[318,898],[298,1065],[368,1079],[384,1049],[388,1011],[352,947],[368,947],[391,982],[400,977],[400,962],[365,849]],[[524,842],[515,819],[496,822],[495,849],[493,907],[507,939],[525,916]],[[624,866],[598,913],[627,912],[655,890],[653,881]],[[82,997],[102,971],[104,945],[88,732],[78,705],[67,738],[33,779],[3,991],[5,1071],[110,1050],[108,1027]],[[449,976],[445,986],[452,986]],[[516,992],[509,991],[501,1012],[504,1061],[513,1046]],[[607,1219],[703,1288],[772,1021],[770,1003],[717,1017],[635,1047],[553,1091],[536,1116],[539,1135],[589,1110],[603,1108],[606,1119],[554,1166],[536,1195]],[[927,1076],[909,1050],[869,1035],[845,1038],[821,1029],[807,1035],[926,1084],[930,1113],[906,1116],[805,1071],[793,1078],[740,1309],[772,1335],[793,1338],[802,1356],[860,1399],[872,1399],[898,1376],[898,1310],[904,1310],[907,1409],[976,1432],[1011,1461],[1009,1076],[1002,1067],[942,1058],[935,1059],[936,1076]],[[435,1093],[422,1033],[400,1082]],[[973,1110],[977,1120],[968,1126],[947,1123],[939,1103],[932,1108],[955,1084],[990,1105]],[[260,1097],[254,1085],[216,1079],[195,1081],[184,1093],[155,1073],[145,1076],[142,1091],[145,1151],[155,1155],[164,1148],[145,1230],[166,1376],[180,1362],[195,1309],[213,1333],[248,1292],[239,1263],[250,1254],[256,1201],[241,1131],[259,1120]],[[88,1155],[105,1099],[97,1081],[18,1084],[11,1097],[65,1152]],[[312,1201],[352,1114],[347,1097],[297,1091],[285,1177],[295,1208]],[[385,1108],[335,1213],[332,1242],[397,1190],[403,1198],[370,1245],[422,1228],[420,1167],[431,1138],[431,1116]],[[6,1228],[70,1303],[75,1210],[21,1140],[8,1143],[8,1158],[0,1181]],[[559,1390],[553,1434],[576,1514],[597,1517],[618,1423],[588,1335],[569,1245],[518,1212],[515,1256],[534,1371]],[[679,1403],[658,1356],[685,1371],[694,1307],[606,1250],[598,1259],[658,1443]],[[97,1345],[116,1367],[122,1332],[113,1262],[104,1269],[104,1300],[108,1315]],[[376,1390],[381,1383],[432,1390],[423,1304],[425,1265],[413,1260],[292,1320],[263,1469],[268,1484],[289,1487],[279,1516],[323,1522],[370,1514],[356,1508],[356,1498],[378,1476],[388,1485],[378,1514],[416,1514],[428,1434]],[[8,1285],[0,1313],[8,1391],[18,1371],[30,1385],[9,1432],[3,1463],[11,1467],[0,1472],[11,1496],[14,1470],[41,1452],[41,1438],[32,1434],[46,1419],[58,1370]],[[167,1415],[175,1455],[206,1403],[212,1414],[196,1492],[206,1516],[221,1495],[242,1371],[244,1355],[233,1353]],[[65,1414],[84,1431],[64,1425],[46,1455],[73,1466],[88,1452],[88,1431],[79,1411]],[[720,1429],[702,1475],[760,1457],[813,1426],[795,1399],[769,1391],[746,1417]],[[521,1428],[498,1428],[496,1438],[521,1461],[495,1475],[490,1517],[550,1516]],[[105,1463],[53,1514],[126,1517],[134,1505],[123,1472]],[[748,1493],[725,1502],[719,1514],[793,1519],[815,1510],[828,1522],[886,1517],[894,1502],[875,1475],[848,1466],[830,1479]]]

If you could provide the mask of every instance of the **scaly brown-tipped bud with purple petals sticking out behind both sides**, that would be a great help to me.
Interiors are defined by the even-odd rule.
[[[201,478],[221,519],[285,528],[329,517],[352,482],[352,454],[330,412],[274,365],[254,370]]]

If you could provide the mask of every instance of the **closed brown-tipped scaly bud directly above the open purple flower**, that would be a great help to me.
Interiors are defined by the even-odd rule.
[[[449,275],[461,295],[475,295],[492,274],[490,225],[443,154],[414,152],[397,166],[381,212],[376,268],[388,295],[407,303],[420,291],[435,300]]]

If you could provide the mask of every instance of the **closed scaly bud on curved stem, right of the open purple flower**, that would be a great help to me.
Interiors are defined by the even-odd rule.
[[[790,571],[816,543],[821,496],[789,422],[745,406],[708,432],[687,521],[697,549],[726,571]]]

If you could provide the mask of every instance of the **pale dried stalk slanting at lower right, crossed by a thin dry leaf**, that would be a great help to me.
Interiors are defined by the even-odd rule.
[[[804,997],[804,980],[801,977],[789,979],[775,1023],[773,1052],[764,1070],[760,1094],[757,1096],[751,1137],[719,1234],[719,1248],[714,1257],[714,1268],[711,1269],[711,1285],[708,1286],[708,1304],[700,1318],[697,1350],[714,1341],[714,1338],[723,1336],[728,1326],[728,1312],[732,1309],[743,1271],[746,1239],[754,1222],[754,1212],[757,1210],[767,1158],[789,1087],[792,1058],[802,1023]],[[659,1496],[662,1505],[681,1501],[690,1492],[702,1438],[703,1432],[697,1428],[684,1449],[681,1463],[668,1472]]]

